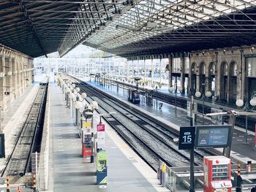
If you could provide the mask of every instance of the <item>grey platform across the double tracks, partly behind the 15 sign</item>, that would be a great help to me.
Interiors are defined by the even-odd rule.
[[[84,79],[86,80],[86,79]],[[99,82],[95,81],[86,81],[90,85],[93,85],[95,88],[104,91],[105,93],[109,93],[112,96],[115,96],[118,99],[121,99],[124,102],[127,102],[128,93],[127,89],[122,87],[121,85],[118,86],[118,91],[115,85],[106,83],[105,86],[99,85]],[[162,102],[162,101],[161,101]],[[146,98],[141,99],[140,104],[131,104],[132,106],[136,106],[140,108],[143,112],[151,115],[152,117],[161,118],[162,121],[165,123],[170,124],[173,128],[178,128],[179,126],[189,126],[189,119],[187,119],[187,110],[177,107],[177,115],[175,115],[175,106],[167,103],[163,103],[162,108],[159,109],[159,101],[154,100],[153,107],[148,107],[146,105]],[[204,119],[205,125],[210,125],[211,120],[208,117]],[[197,123],[196,125],[200,126],[203,125],[203,118],[200,115],[197,115]],[[252,161],[256,163],[256,149],[254,145],[254,135],[252,131],[248,131],[248,139],[247,143],[245,143],[245,129],[235,126],[235,130],[233,133],[233,144],[232,144],[232,151],[231,155],[233,160],[240,161],[243,163],[247,163],[247,161]],[[219,152],[221,149],[217,149]]]

